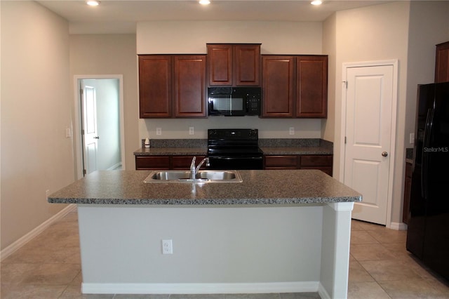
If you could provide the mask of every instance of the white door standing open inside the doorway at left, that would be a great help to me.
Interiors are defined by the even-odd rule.
[[[97,104],[95,88],[92,86],[83,86],[83,162],[84,174],[97,170]]]

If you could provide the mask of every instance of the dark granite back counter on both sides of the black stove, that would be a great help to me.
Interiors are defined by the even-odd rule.
[[[206,156],[207,140],[151,140],[152,147],[135,150],[135,156],[186,155]],[[333,154],[333,143],[316,138],[260,139],[259,147],[267,155]]]

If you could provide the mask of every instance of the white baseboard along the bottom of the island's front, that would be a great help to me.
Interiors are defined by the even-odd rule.
[[[83,294],[304,293],[319,291],[319,281],[234,284],[81,284]],[[326,292],[326,291],[325,291]]]

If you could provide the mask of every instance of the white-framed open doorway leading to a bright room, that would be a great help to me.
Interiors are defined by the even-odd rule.
[[[121,75],[75,77],[76,177],[125,169]]]

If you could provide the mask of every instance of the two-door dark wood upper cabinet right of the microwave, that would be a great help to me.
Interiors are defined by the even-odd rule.
[[[262,78],[262,117],[327,117],[327,55],[262,55]]]

